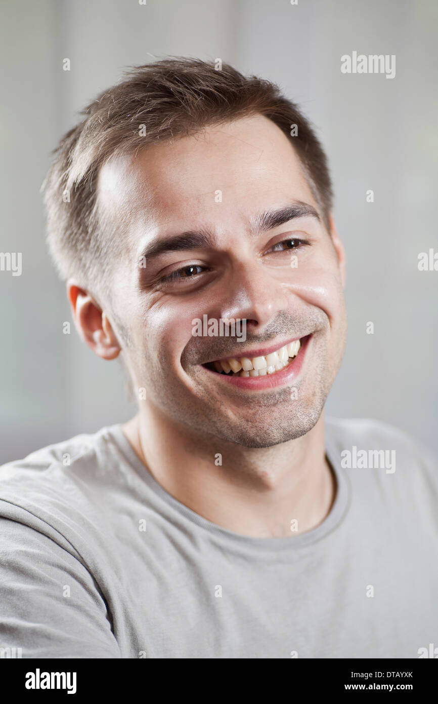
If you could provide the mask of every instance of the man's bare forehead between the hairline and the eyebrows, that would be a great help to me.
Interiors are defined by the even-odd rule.
[[[145,227],[180,229],[194,220],[226,227],[294,199],[319,210],[290,139],[262,115],[108,161],[98,199],[134,239]]]

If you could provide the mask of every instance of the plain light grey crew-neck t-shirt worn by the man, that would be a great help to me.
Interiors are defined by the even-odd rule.
[[[327,419],[326,453],[330,513],[283,538],[186,508],[119,424],[4,465],[0,647],[22,658],[418,658],[437,647],[436,465],[374,420]]]

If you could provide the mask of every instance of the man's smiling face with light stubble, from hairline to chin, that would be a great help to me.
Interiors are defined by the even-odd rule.
[[[129,344],[120,342],[134,386],[146,390],[139,403],[247,447],[309,432],[344,353],[343,254],[289,139],[262,115],[236,120],[112,160],[98,188],[124,233],[112,305],[129,332]],[[294,206],[309,214],[284,214]],[[279,211],[282,218],[261,218]],[[246,340],[226,336],[227,325],[223,337],[193,334],[205,315],[245,320]],[[299,353],[281,370],[272,369],[275,356],[258,375],[214,365],[293,351],[287,345],[297,339]]]

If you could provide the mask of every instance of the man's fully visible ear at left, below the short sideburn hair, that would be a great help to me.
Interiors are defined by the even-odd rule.
[[[67,281],[67,298],[75,327],[84,342],[102,359],[115,359],[121,348],[110,321],[88,291],[73,279]]]

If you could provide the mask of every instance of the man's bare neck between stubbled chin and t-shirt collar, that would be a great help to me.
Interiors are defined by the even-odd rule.
[[[270,448],[193,433],[149,407],[122,429],[163,489],[230,531],[294,536],[315,528],[333,505],[323,414],[307,434]]]

